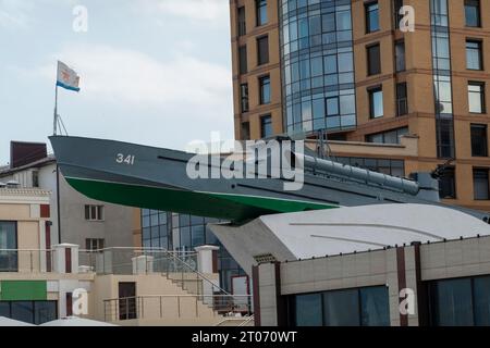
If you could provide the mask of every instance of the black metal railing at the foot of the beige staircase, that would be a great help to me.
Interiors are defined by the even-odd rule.
[[[154,295],[108,299],[103,301],[106,322],[142,319],[211,318],[216,315],[252,315],[248,295],[211,295],[211,306],[203,296]]]

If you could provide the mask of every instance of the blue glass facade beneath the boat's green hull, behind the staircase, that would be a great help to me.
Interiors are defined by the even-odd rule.
[[[231,291],[231,277],[244,275],[245,272],[207,226],[208,223],[216,222],[219,220],[142,209],[143,247],[192,251],[195,247],[203,245],[219,246],[220,286]]]

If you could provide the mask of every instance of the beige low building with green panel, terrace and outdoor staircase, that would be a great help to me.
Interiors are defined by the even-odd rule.
[[[50,244],[51,194],[0,187],[0,316],[32,324],[71,315],[124,326],[253,323],[249,296],[219,287],[218,247]]]

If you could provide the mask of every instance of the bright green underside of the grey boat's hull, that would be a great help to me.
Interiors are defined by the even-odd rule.
[[[66,177],[66,181],[81,194],[109,203],[235,222],[273,213],[338,208],[332,204],[281,200],[269,197],[195,192],[71,177]]]

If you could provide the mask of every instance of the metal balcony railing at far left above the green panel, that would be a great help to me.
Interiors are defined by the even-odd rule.
[[[51,249],[0,249],[0,272],[50,273],[53,254]]]

